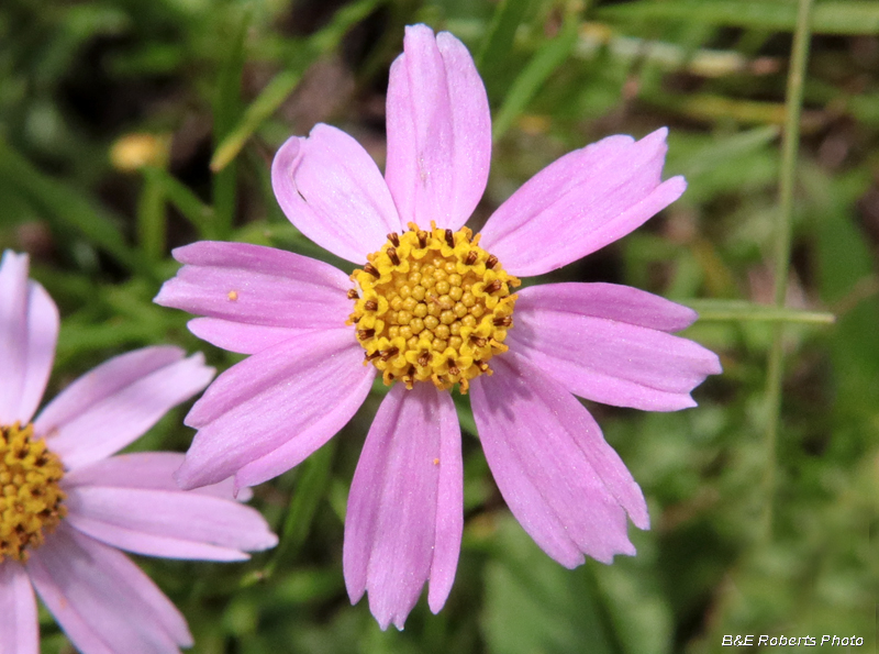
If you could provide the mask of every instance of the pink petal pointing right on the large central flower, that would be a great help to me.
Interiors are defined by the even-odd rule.
[[[580,397],[650,411],[694,407],[690,391],[721,372],[717,355],[649,325],[679,329],[696,313],[622,289],[626,287],[530,287],[520,293],[507,344]]]

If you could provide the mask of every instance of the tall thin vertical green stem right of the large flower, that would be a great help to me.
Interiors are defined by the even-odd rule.
[[[776,232],[776,307],[783,308],[788,292],[790,273],[791,224],[793,219],[793,187],[797,171],[797,149],[800,143],[800,113],[803,103],[803,80],[809,56],[810,16],[812,0],[800,0],[797,12],[797,31],[793,34],[793,52],[788,73],[787,101],[785,107],[785,134],[781,144],[781,176],[779,179],[779,214]],[[776,491],[776,443],[781,413],[781,383],[783,377],[785,323],[774,325],[772,347],[769,353],[769,370],[766,380],[767,429],[766,475],[763,516],[763,535],[772,533],[772,506]]]

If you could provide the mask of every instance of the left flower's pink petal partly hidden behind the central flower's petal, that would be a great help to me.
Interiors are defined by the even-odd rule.
[[[118,454],[68,472],[65,474],[62,484],[65,488],[102,486],[177,491],[180,490],[180,487],[174,479],[174,474],[182,465],[183,458],[185,455],[177,452]],[[187,492],[198,492],[238,501],[247,501],[252,497],[252,494],[246,488],[235,495],[231,477],[219,484],[202,486]]]

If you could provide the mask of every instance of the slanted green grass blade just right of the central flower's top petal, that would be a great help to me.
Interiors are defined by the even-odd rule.
[[[546,42],[532,57],[525,69],[515,78],[510,92],[503,99],[498,114],[494,117],[492,137],[500,138],[513,124],[513,121],[527,107],[543,84],[565,62],[577,43],[578,20],[567,15],[561,31],[552,41]]]

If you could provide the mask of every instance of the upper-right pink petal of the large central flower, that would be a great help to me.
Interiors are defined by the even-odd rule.
[[[530,277],[625,236],[687,188],[682,177],[660,182],[667,133],[638,142],[609,136],[565,155],[498,208],[479,245],[511,274]]]

